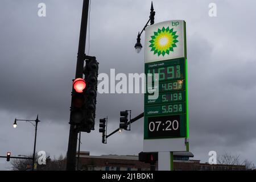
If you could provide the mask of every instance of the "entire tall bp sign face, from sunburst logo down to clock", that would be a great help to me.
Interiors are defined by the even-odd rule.
[[[188,138],[184,20],[161,22],[146,28],[145,73],[144,141],[166,143],[170,138]],[[150,97],[152,95],[155,97]]]

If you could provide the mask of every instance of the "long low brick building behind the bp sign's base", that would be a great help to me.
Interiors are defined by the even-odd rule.
[[[174,152],[174,170],[176,171],[243,171],[245,166],[200,163],[191,152]],[[149,171],[150,164],[139,162],[136,155],[92,156],[89,152],[80,152],[79,168],[89,171]],[[158,170],[158,164],[155,166]]]

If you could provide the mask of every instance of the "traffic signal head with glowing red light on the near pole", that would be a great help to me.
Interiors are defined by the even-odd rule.
[[[84,79],[76,78],[76,80],[73,80],[70,114],[70,123],[72,125],[81,125],[83,119],[85,118],[85,88],[86,82]]]

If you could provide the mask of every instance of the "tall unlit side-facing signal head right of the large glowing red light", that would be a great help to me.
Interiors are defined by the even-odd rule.
[[[85,60],[84,75],[86,80],[85,95],[85,119],[82,122],[80,131],[90,133],[94,130],[96,117],[96,97],[97,97],[97,83],[98,83],[98,62],[95,57]]]

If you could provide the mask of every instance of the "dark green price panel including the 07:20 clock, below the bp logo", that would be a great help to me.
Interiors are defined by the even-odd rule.
[[[144,94],[144,139],[187,137],[185,71],[184,57],[145,64],[146,81],[151,79],[152,83],[147,82]],[[158,73],[158,85],[154,73]],[[157,90],[157,98],[151,99]]]

